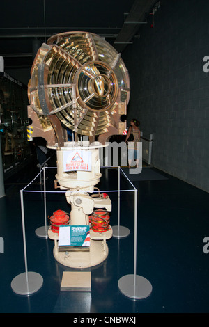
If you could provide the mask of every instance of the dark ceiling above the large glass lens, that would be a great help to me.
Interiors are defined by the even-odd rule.
[[[50,36],[88,31],[120,53],[139,34],[156,0],[1,1],[0,56],[4,67],[31,67],[33,54]]]

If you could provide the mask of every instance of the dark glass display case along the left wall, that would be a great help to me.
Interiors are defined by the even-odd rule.
[[[0,131],[3,173],[13,170],[31,155],[27,141],[27,87],[0,73]]]

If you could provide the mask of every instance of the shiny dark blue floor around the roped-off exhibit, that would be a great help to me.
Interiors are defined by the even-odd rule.
[[[6,181],[6,196],[0,198],[0,237],[4,241],[4,253],[0,253],[0,312],[208,312],[209,254],[203,252],[203,239],[209,234],[208,193],[159,170],[144,169],[162,175],[162,179],[148,177],[132,182],[138,190],[137,274],[153,286],[148,298],[134,301],[118,289],[119,278],[134,272],[134,192],[121,191],[120,222],[130,229],[130,235],[107,241],[107,260],[90,269],[91,292],[61,292],[66,268],[54,260],[53,241],[35,234],[36,228],[44,225],[43,193],[35,192],[42,188],[39,180],[29,186],[33,192],[24,193],[24,214],[28,268],[40,273],[44,282],[31,296],[13,292],[11,281],[25,271],[20,190],[36,176],[36,168]],[[47,190],[54,187],[52,170],[47,170]],[[102,168],[99,187],[103,191],[117,190],[117,170]],[[124,177],[121,189],[133,189]],[[110,224],[117,225],[118,193],[109,196],[113,207]],[[68,212],[64,193],[47,193],[47,215],[56,209]]]

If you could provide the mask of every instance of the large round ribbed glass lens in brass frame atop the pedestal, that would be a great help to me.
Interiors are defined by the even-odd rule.
[[[45,122],[42,128],[52,125],[56,137],[63,127],[92,137],[120,134],[130,81],[109,43],[93,33],[69,32],[54,35],[38,50],[28,95],[40,124]]]

